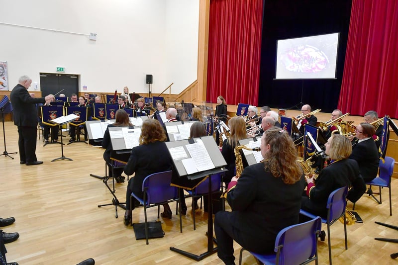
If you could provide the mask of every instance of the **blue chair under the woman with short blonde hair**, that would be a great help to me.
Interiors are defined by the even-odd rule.
[[[332,264],[332,250],[330,246],[330,226],[336,222],[341,216],[344,216],[344,220],[346,220],[345,216],[345,207],[347,205],[347,193],[348,187],[341,187],[334,190],[330,193],[329,198],[327,199],[327,217],[326,219],[322,218],[322,223],[327,224],[327,243],[329,248],[329,264]],[[313,215],[304,210],[300,210],[300,214],[308,216],[309,218],[315,218],[316,215]],[[344,222],[344,239],[345,239],[345,249],[347,250],[347,224]]]

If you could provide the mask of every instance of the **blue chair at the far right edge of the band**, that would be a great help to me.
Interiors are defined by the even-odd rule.
[[[366,184],[370,185],[370,188],[372,188],[372,186],[379,186],[380,200],[378,200],[373,195],[373,193],[370,194],[379,204],[382,204],[382,187],[389,188],[390,215],[393,215],[393,210],[391,208],[391,177],[393,176],[393,172],[394,172],[394,164],[395,164],[395,160],[392,157],[386,157],[384,159],[384,163],[383,163],[383,160],[380,160],[380,162],[379,162],[379,177],[375,177],[370,182],[366,182]]]

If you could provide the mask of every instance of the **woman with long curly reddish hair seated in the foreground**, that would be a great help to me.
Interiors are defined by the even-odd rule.
[[[229,183],[232,212],[215,214],[217,255],[228,265],[235,260],[233,240],[248,251],[271,254],[279,231],[298,223],[305,182],[290,135],[276,127],[267,130],[261,155],[263,162],[245,168]]]

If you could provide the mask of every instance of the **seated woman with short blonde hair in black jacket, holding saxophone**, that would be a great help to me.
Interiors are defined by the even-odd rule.
[[[347,137],[334,134],[325,144],[326,155],[333,161],[320,171],[319,176],[306,178],[306,196],[301,198],[301,209],[325,218],[326,203],[330,193],[338,188],[351,187],[347,199],[356,202],[366,190],[364,179],[360,175],[360,166],[351,159],[351,142]],[[300,215],[300,222],[307,221]],[[324,235],[324,233],[322,233]],[[323,236],[324,239],[324,236]]]

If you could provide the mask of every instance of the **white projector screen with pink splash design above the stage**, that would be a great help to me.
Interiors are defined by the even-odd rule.
[[[339,35],[277,40],[275,79],[335,79]]]

